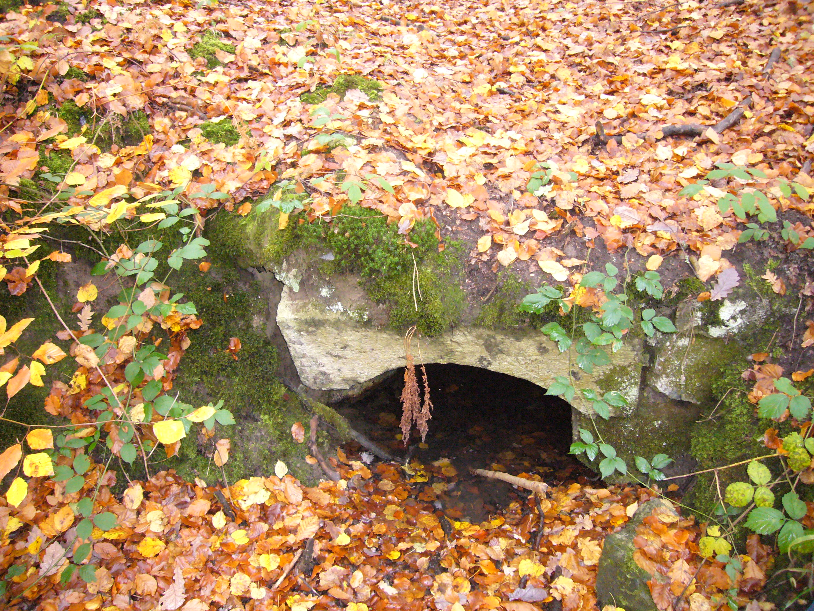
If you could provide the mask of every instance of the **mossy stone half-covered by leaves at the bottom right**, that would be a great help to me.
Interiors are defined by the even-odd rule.
[[[622,530],[605,538],[597,566],[597,598],[600,607],[613,604],[625,611],[659,611],[650,596],[650,587],[647,586],[652,576],[633,559],[636,527],[651,516],[656,508],[678,515],[669,501],[647,501],[638,508]]]

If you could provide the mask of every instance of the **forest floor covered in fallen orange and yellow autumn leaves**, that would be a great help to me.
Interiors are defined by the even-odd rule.
[[[634,270],[686,275],[689,262],[716,282],[733,266],[724,255],[740,221],[772,218],[755,209],[739,220],[729,200],[720,205],[725,192],[765,192],[777,218],[767,226],[778,234],[785,220],[799,236],[784,236],[786,250],[814,237],[809,9],[794,0],[23,7],[0,24],[0,210],[22,213],[51,182],[89,209],[181,187],[204,217],[220,206],[245,215],[291,180],[309,193],[309,218],[348,201],[405,233],[434,218],[444,237],[471,236],[473,265],[513,266],[536,284],[578,283],[571,269],[597,246],[632,249]],[[323,96],[330,86],[335,95]],[[672,125],[694,126],[666,138]],[[712,169],[746,167],[757,172],[679,195]],[[125,206],[127,218],[142,213]],[[786,283],[805,284],[787,271]],[[515,441],[531,445],[524,439]],[[43,481],[17,508],[0,502],[0,569],[27,567],[6,608],[596,609],[604,538],[656,495],[591,481],[556,452],[531,463],[510,452],[484,460],[557,481],[539,505],[513,490],[473,517],[451,507],[459,473],[449,457],[368,466],[352,452],[330,457],[340,481],[313,488],[278,465],[222,491],[164,472],[120,497],[108,473],[95,504],[118,524],[94,534],[91,583],[60,582],[74,513],[64,486]],[[95,465],[86,483],[99,473]],[[657,513],[637,530],[658,608],[772,609],[749,602],[772,565],[758,536],[732,578],[700,555],[706,527],[686,515]]]

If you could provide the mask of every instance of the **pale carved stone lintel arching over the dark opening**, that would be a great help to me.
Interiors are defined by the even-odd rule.
[[[356,282],[344,283],[347,287]],[[282,289],[277,324],[291,352],[300,379],[315,390],[354,389],[386,371],[405,366],[404,336],[379,327],[375,304],[363,292],[321,288],[295,292]],[[613,354],[618,374],[608,380],[607,370],[593,374],[576,367],[576,354],[560,353],[557,345],[534,329],[496,331],[464,327],[429,340],[414,341],[412,352],[419,363],[455,363],[483,367],[529,380],[543,388],[557,376],[571,376],[577,389],[602,393],[617,390],[631,406],[637,405],[643,354],[641,344],[629,341]],[[570,362],[569,362],[570,359]],[[589,410],[576,399],[574,407]]]

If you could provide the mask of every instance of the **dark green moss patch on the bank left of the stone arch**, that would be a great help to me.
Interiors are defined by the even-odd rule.
[[[212,238],[213,246],[216,240]],[[216,424],[215,436],[209,438],[195,429],[167,466],[187,479],[202,477],[214,483],[222,474],[210,457],[215,442],[228,437],[231,451],[225,473],[230,484],[272,473],[277,460],[300,480],[313,483],[313,469],[304,460],[307,451],[291,438],[291,425],[308,420],[309,410],[278,380],[274,347],[262,331],[252,328],[265,317],[265,300],[254,283],[241,277],[227,250],[210,249],[210,254],[213,265],[207,275],[190,268],[173,278],[173,288],[195,303],[204,321],[190,334],[192,343],[179,366],[175,389],[195,407],[222,399],[236,422]],[[242,344],[237,359],[225,350],[232,337]],[[325,443],[327,436],[320,433],[317,439]]]

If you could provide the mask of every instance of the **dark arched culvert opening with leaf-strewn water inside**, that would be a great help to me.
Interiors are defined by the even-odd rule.
[[[447,516],[484,521],[528,496],[505,482],[470,476],[470,468],[539,476],[550,486],[585,486],[597,480],[596,473],[568,455],[572,408],[561,398],[546,396],[544,388],[497,371],[439,363],[426,367],[434,408],[424,442],[415,428],[406,448],[401,441],[404,367],[334,407],[354,429],[406,460],[410,471],[427,474],[432,490],[420,486],[420,476],[417,490]],[[420,367],[416,373],[422,385]],[[351,442],[347,450],[361,453],[364,448]],[[436,499],[431,498],[434,493]]]

